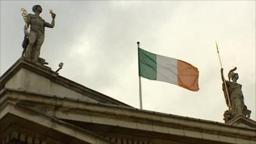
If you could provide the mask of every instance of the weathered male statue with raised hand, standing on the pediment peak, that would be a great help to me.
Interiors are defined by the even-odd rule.
[[[24,17],[24,15],[22,13],[24,20],[26,22],[26,26],[24,28],[25,38],[24,38],[22,47],[26,51],[25,57],[27,60],[31,60],[33,62],[38,62],[40,60],[40,58],[39,58],[40,49],[44,42],[45,27],[47,27],[47,28],[54,27],[54,19],[56,17],[56,14],[53,13],[52,11],[50,11],[51,16],[52,16],[52,22],[51,22],[51,24],[49,24],[48,22],[45,22],[45,20],[39,16],[40,13],[42,12],[42,8],[40,5],[33,6],[32,10],[33,10],[33,12],[35,12],[35,14],[29,13],[28,15],[26,15]],[[29,26],[30,26],[30,31],[28,33],[27,30],[28,30]]]

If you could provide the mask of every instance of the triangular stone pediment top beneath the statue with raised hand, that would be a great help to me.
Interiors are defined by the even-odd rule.
[[[106,103],[118,106],[128,106],[107,95],[75,83],[58,75],[49,67],[31,63],[20,58],[0,77],[0,89],[11,88],[26,92],[76,99],[93,103]],[[131,107],[131,106],[128,106]]]

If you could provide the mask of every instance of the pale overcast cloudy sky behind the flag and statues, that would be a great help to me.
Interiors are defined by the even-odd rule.
[[[20,8],[40,4],[45,28],[40,57],[60,75],[140,108],[138,51],[141,48],[187,61],[198,68],[198,92],[141,78],[143,109],[223,122],[227,110],[222,65],[237,67],[244,102],[255,120],[255,1],[1,1],[1,75],[22,53]]]

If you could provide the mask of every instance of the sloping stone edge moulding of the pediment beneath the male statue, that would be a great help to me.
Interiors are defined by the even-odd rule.
[[[71,81],[70,79],[67,79],[65,77],[62,77],[58,75],[57,72],[54,72],[51,70],[51,68],[46,67],[44,65],[35,65],[35,63],[32,63],[31,61],[25,60],[23,57],[19,58],[1,77],[0,77],[0,85],[6,83],[13,75],[15,75],[21,68],[26,68],[28,70],[31,70],[35,72],[36,74],[40,74],[41,76],[47,77],[51,79],[54,83],[58,83],[61,86],[65,86],[66,88],[69,88],[71,90],[74,90],[75,92],[84,94],[86,93],[87,97],[90,97],[92,99],[98,100],[99,102],[108,102],[112,104],[122,105],[122,106],[129,106],[128,104],[125,104],[124,102],[120,102],[119,100],[113,99],[109,97],[108,95],[104,95],[103,93],[99,93],[95,90],[92,90],[90,88],[87,88],[83,86],[82,84],[76,83],[74,81]],[[1,88],[1,86],[0,86]],[[89,95],[88,95],[89,94]]]

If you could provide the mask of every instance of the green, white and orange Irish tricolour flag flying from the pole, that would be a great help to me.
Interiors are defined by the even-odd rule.
[[[192,91],[198,91],[199,72],[185,61],[160,56],[138,48],[139,76],[147,79],[176,84]]]

